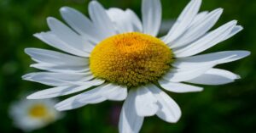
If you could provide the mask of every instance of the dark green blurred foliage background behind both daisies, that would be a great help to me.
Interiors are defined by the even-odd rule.
[[[140,15],[140,0],[100,0],[105,8],[131,8]],[[47,86],[21,80],[21,75],[37,71],[29,68],[32,60],[24,53],[26,47],[48,48],[33,33],[49,30],[45,19],[61,19],[59,8],[69,6],[87,13],[88,0],[0,0],[0,132],[21,132],[9,118],[9,106],[28,92]],[[163,18],[175,19],[189,0],[162,0]],[[256,1],[203,0],[201,10],[224,8],[219,19],[222,25],[237,19],[245,29],[230,40],[221,42],[208,52],[248,50],[252,54],[235,63],[219,65],[229,69],[241,80],[224,86],[204,86],[200,93],[169,93],[180,105],[182,118],[177,124],[166,123],[157,117],[145,119],[142,133],[254,133],[256,127]],[[65,97],[61,97],[63,99]],[[68,111],[66,116],[35,133],[57,132],[118,132],[117,122],[122,103],[104,102]]]

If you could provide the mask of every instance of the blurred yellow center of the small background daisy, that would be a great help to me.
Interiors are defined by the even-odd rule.
[[[32,118],[43,118],[48,115],[48,111],[43,104],[36,104],[29,109],[28,114]]]

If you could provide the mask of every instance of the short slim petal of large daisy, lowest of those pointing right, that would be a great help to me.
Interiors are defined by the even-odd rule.
[[[203,91],[202,87],[190,86],[183,83],[173,83],[164,79],[161,79],[158,82],[160,86],[166,89],[167,91],[172,91],[177,93]]]

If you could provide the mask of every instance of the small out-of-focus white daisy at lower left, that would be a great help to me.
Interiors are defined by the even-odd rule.
[[[24,131],[32,131],[61,118],[62,114],[54,108],[55,103],[52,99],[21,100],[11,106],[9,114],[15,126]]]

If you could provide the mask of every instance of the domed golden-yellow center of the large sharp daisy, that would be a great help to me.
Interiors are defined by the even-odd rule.
[[[155,81],[170,69],[172,51],[160,39],[131,32],[111,36],[90,54],[94,76],[125,86]]]

